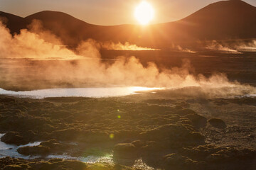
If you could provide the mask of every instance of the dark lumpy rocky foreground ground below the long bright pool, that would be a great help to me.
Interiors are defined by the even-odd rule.
[[[0,96],[1,141],[38,159],[4,157],[0,169],[256,169],[256,98],[161,93],[119,98]],[[113,154],[114,164],[46,159]]]

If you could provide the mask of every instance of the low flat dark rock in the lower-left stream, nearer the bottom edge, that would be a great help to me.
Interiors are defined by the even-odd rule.
[[[17,151],[19,154],[24,155],[46,155],[50,153],[50,148],[38,145],[33,147],[19,147]]]

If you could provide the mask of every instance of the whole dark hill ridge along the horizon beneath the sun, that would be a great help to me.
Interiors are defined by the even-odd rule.
[[[66,13],[42,11],[26,18],[0,13],[9,22],[11,33],[26,28],[33,19],[58,35],[65,45],[77,45],[81,40],[131,42],[149,47],[167,47],[172,42],[184,44],[196,40],[256,38],[256,7],[240,0],[219,1],[186,18],[151,26],[96,26]]]

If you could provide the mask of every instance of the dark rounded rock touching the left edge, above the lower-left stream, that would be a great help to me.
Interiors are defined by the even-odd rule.
[[[6,134],[1,137],[1,142],[14,145],[26,145],[28,143],[28,140],[26,140],[18,132],[6,132]]]

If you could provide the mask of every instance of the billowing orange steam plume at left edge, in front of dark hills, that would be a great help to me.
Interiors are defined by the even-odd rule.
[[[21,30],[18,35],[12,35],[0,24],[0,57],[2,58],[30,58],[36,60],[80,58],[74,52],[60,46],[60,41],[54,35],[45,32],[36,34],[28,30]],[[48,42],[43,38],[48,37]],[[54,44],[52,42],[55,42]]]

